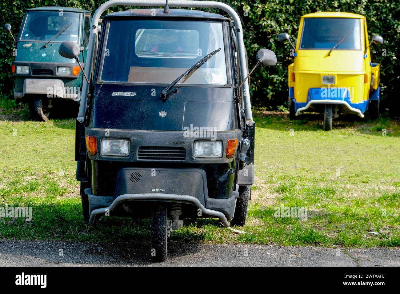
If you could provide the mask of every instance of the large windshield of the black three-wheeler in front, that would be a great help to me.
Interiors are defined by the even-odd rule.
[[[227,84],[222,23],[113,20],[103,48],[101,80],[170,84],[218,48],[222,49],[177,84]]]

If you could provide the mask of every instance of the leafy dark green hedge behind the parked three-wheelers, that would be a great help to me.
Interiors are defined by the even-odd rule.
[[[94,10],[105,2],[93,0],[14,0],[3,2],[0,19],[12,25],[12,32],[16,36],[24,15],[28,8],[38,6],[72,6]],[[400,8],[398,0],[374,1],[327,1],[327,0],[251,0],[251,1],[224,1],[233,6],[240,14],[244,23],[244,39],[249,56],[249,67],[255,60],[255,54],[260,48],[268,48],[276,53],[278,64],[274,68],[257,70],[251,80],[252,102],[254,106],[276,108],[287,105],[287,66],[292,62],[290,47],[287,42],[277,42],[278,34],[288,32],[293,41],[296,41],[298,23],[303,14],[317,11],[353,12],[367,17],[370,38],[373,34],[380,34],[385,42],[381,46],[372,45],[372,59],[382,65],[381,88],[382,110],[386,108],[394,114],[400,111],[398,99],[399,67],[396,58],[399,46]],[[123,10],[116,8],[115,10]],[[12,98],[13,80],[11,63],[13,42],[4,31],[0,41],[0,88],[4,98]],[[382,49],[386,56],[382,56]]]

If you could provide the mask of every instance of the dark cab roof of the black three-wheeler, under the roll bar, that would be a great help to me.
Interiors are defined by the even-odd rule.
[[[170,13],[164,13],[164,8],[160,9],[130,9],[125,11],[112,12],[104,18],[112,18],[118,16],[160,16],[160,17],[187,17],[187,18],[204,18],[204,19],[220,19],[229,20],[220,14],[205,12],[201,10],[190,9],[170,9]]]

